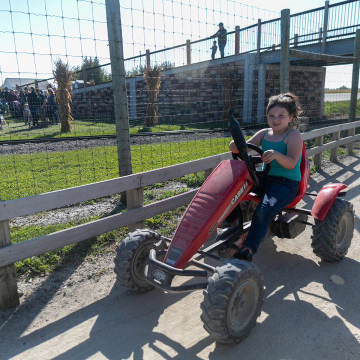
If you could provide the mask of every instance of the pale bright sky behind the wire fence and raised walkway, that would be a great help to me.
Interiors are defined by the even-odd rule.
[[[281,3],[120,0],[124,57],[208,37],[219,21],[231,31],[235,25],[252,25],[258,18],[279,17]],[[293,14],[324,3],[301,0],[286,5]],[[57,58],[70,66],[80,65],[84,56],[97,56],[100,64],[110,62],[105,0],[0,0],[0,24],[0,84],[6,77],[52,77]],[[351,65],[328,67],[325,86],[350,86],[351,70]]]

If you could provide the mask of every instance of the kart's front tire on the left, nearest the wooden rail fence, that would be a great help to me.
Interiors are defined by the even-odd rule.
[[[144,292],[154,287],[146,280],[145,265],[152,244],[156,244],[156,251],[166,248],[160,237],[158,232],[137,229],[121,241],[116,249],[114,271],[122,285],[134,292]],[[161,260],[159,257],[157,259]]]

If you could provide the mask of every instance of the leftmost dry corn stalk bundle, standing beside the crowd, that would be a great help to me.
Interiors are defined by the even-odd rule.
[[[71,131],[71,80],[73,79],[72,71],[68,63],[62,62],[60,59],[55,61],[55,69],[52,71],[56,82],[57,90],[55,101],[59,107],[59,118],[61,124],[61,132]]]

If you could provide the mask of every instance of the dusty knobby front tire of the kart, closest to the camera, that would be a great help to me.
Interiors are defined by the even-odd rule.
[[[216,267],[203,295],[200,307],[205,330],[220,342],[238,342],[249,334],[261,312],[261,272],[250,262],[231,260]]]

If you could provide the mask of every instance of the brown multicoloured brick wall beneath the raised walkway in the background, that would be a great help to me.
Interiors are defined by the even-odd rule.
[[[266,66],[265,96],[268,98],[280,91],[280,69],[278,65]],[[232,90],[233,106],[240,110],[243,106],[244,67],[243,61],[224,64],[197,66],[187,70],[188,66],[163,71],[157,106],[159,121],[166,123],[194,123],[219,120],[223,117],[224,82],[229,70],[235,74]],[[319,116],[321,88],[324,81],[322,68],[290,67],[290,91],[297,94],[306,109],[304,116]],[[306,70],[306,72],[304,71]],[[257,69],[252,73],[252,111],[251,122],[256,122],[257,110]],[[111,86],[86,91],[73,91],[72,114],[78,117],[114,118],[113,93]],[[128,90],[127,84],[127,90]],[[142,123],[146,112],[147,91],[142,77],[136,78],[136,119]],[[129,106],[130,113],[130,106]]]

